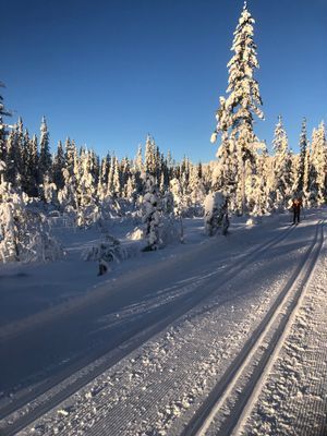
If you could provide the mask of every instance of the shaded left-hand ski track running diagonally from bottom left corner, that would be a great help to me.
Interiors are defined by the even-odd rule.
[[[78,368],[78,371],[75,371],[72,375],[66,377],[61,376],[60,379],[55,378],[50,380],[50,383],[46,386],[36,387],[32,395],[23,397],[22,400],[17,402],[19,407],[15,407],[14,403],[9,404],[9,407],[4,407],[2,410],[0,410],[0,416],[2,421],[2,424],[0,423],[1,435],[11,436],[16,434],[32,422],[37,420],[39,416],[51,410],[53,407],[68,399],[75,391],[84,387],[108,368],[112,367],[117,362],[130,354],[142,343],[156,336],[162,329],[167,328],[171,323],[175,322],[184,313],[199,304],[211,293],[215,293],[221,287],[226,286],[230,280],[232,280],[241,271],[246,269],[246,267],[258,259],[263,253],[271,250],[274,246],[282,242],[292,231],[292,227],[287,227],[281,234],[271,238],[254,250],[249,250],[249,252],[235,259],[234,264],[232,263],[231,265],[228,265],[228,270],[221,271],[221,265],[219,264],[216,271],[210,272],[209,275],[206,272],[204,277],[191,283],[191,286],[180,286],[178,290],[183,296],[185,296],[185,299],[182,301],[182,305],[179,306],[178,311],[173,312],[170,316],[155,323],[147,329],[141,330],[136,335],[132,336],[128,341],[122,343],[117,350],[112,350],[107,355],[96,360],[94,363],[84,365],[82,368]],[[213,276],[215,275],[219,275],[219,287],[216,284],[209,286],[209,279],[213,279]],[[203,289],[205,288],[206,292],[196,294],[195,291],[199,287]],[[183,290],[185,292],[183,292]],[[177,292],[177,289],[174,289],[174,292]],[[5,423],[10,423],[10,425],[7,425]]]

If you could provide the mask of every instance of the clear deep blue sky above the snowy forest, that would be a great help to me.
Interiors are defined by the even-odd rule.
[[[51,146],[68,135],[99,155],[134,157],[146,134],[177,159],[215,159],[209,142],[242,0],[0,0],[0,81],[31,133],[47,117]],[[327,121],[327,1],[249,0],[256,20],[271,143],[281,113],[298,150]]]

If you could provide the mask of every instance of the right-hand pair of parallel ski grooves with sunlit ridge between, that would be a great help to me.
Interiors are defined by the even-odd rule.
[[[258,389],[261,377],[267,371],[269,360],[276,349],[280,347],[282,334],[314,270],[324,243],[324,220],[318,221],[313,242],[298,268],[257,329],[245,342],[238,358],[186,424],[181,436],[204,436],[206,434],[229,436],[233,434],[235,426],[240,425],[243,411],[249,405],[254,390]],[[249,367],[252,367],[250,376]],[[237,399],[232,400],[231,395],[237,396]],[[214,428],[215,417],[217,419],[217,414],[219,411],[221,412],[222,408],[228,410],[228,414],[225,419],[221,419],[220,414],[222,422],[218,428]]]

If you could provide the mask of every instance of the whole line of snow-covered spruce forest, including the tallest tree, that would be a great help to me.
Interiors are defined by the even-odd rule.
[[[227,95],[219,98],[211,135],[211,143],[220,138],[217,160],[207,164],[193,164],[186,157],[177,162],[170,153],[160,152],[150,135],[133,159],[118,159],[109,153],[100,157],[93,149],[77,147],[71,138],[60,141],[51,153],[46,118],[39,136],[31,136],[21,118],[13,125],[5,123],[10,111],[0,96],[0,259],[20,258],[15,241],[34,234],[35,242],[36,228],[46,234],[43,246],[47,245],[50,237],[41,228],[46,228],[46,217],[53,211],[83,228],[112,216],[143,216],[152,249],[158,246],[160,216],[181,220],[201,215],[205,197],[213,193],[219,192],[226,198],[225,207],[235,215],[282,211],[290,207],[294,195],[301,196],[306,207],[326,203],[324,122],[314,129],[310,141],[303,119],[298,154],[289,146],[281,116],[271,153],[254,133],[254,119],[263,119],[264,113],[255,80],[259,65],[254,20],[246,2],[232,51]],[[33,223],[26,225],[28,231],[22,227],[26,220]],[[31,238],[25,247],[31,245]]]

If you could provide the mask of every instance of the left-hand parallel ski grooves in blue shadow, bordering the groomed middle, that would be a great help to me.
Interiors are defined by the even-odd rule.
[[[175,322],[179,317],[195,307],[203,300],[221,289],[226,283],[239,275],[244,268],[246,268],[246,266],[255,262],[264,252],[282,242],[293,231],[293,229],[294,227],[289,226],[282,231],[281,234],[271,238],[259,247],[255,247],[254,250],[246,252],[244,255],[242,255],[241,259],[238,259],[238,264],[232,265],[228,268],[228,270],[221,271],[219,269],[217,271],[217,274],[220,274],[219,287],[207,287],[206,292],[195,292],[199,286],[204,287],[206,282],[209,282],[213,276],[208,279],[199,280],[198,287],[194,289],[191,294],[182,295],[180,299],[181,302],[178,304],[174,302],[174,312],[170,313],[168,316],[161,318],[159,322],[153,324],[148,328],[137,331],[116,350],[109,350],[109,352],[108,350],[104,349],[100,351],[97,350],[96,355],[95,353],[89,353],[88,356],[83,360],[83,362],[78,361],[74,365],[66,367],[46,384],[36,387],[33,392],[28,392],[17,401],[3,407],[0,410],[1,421],[9,419],[14,412],[23,410],[27,404],[31,407],[33,401],[37,400],[37,404],[35,407],[32,405],[27,412],[23,413],[22,416],[12,424],[2,427],[1,436],[15,435],[17,432],[32,424],[38,417],[87,385],[98,375],[112,367],[124,356],[167,328],[171,323]],[[183,287],[181,287],[181,289]],[[92,367],[89,372],[85,371],[87,370],[87,365],[90,365],[94,361],[100,356],[105,356],[106,354],[108,354],[108,359],[104,359],[104,361],[101,361],[98,365]],[[81,375],[78,372],[81,372]],[[72,380],[70,380],[70,377]]]

